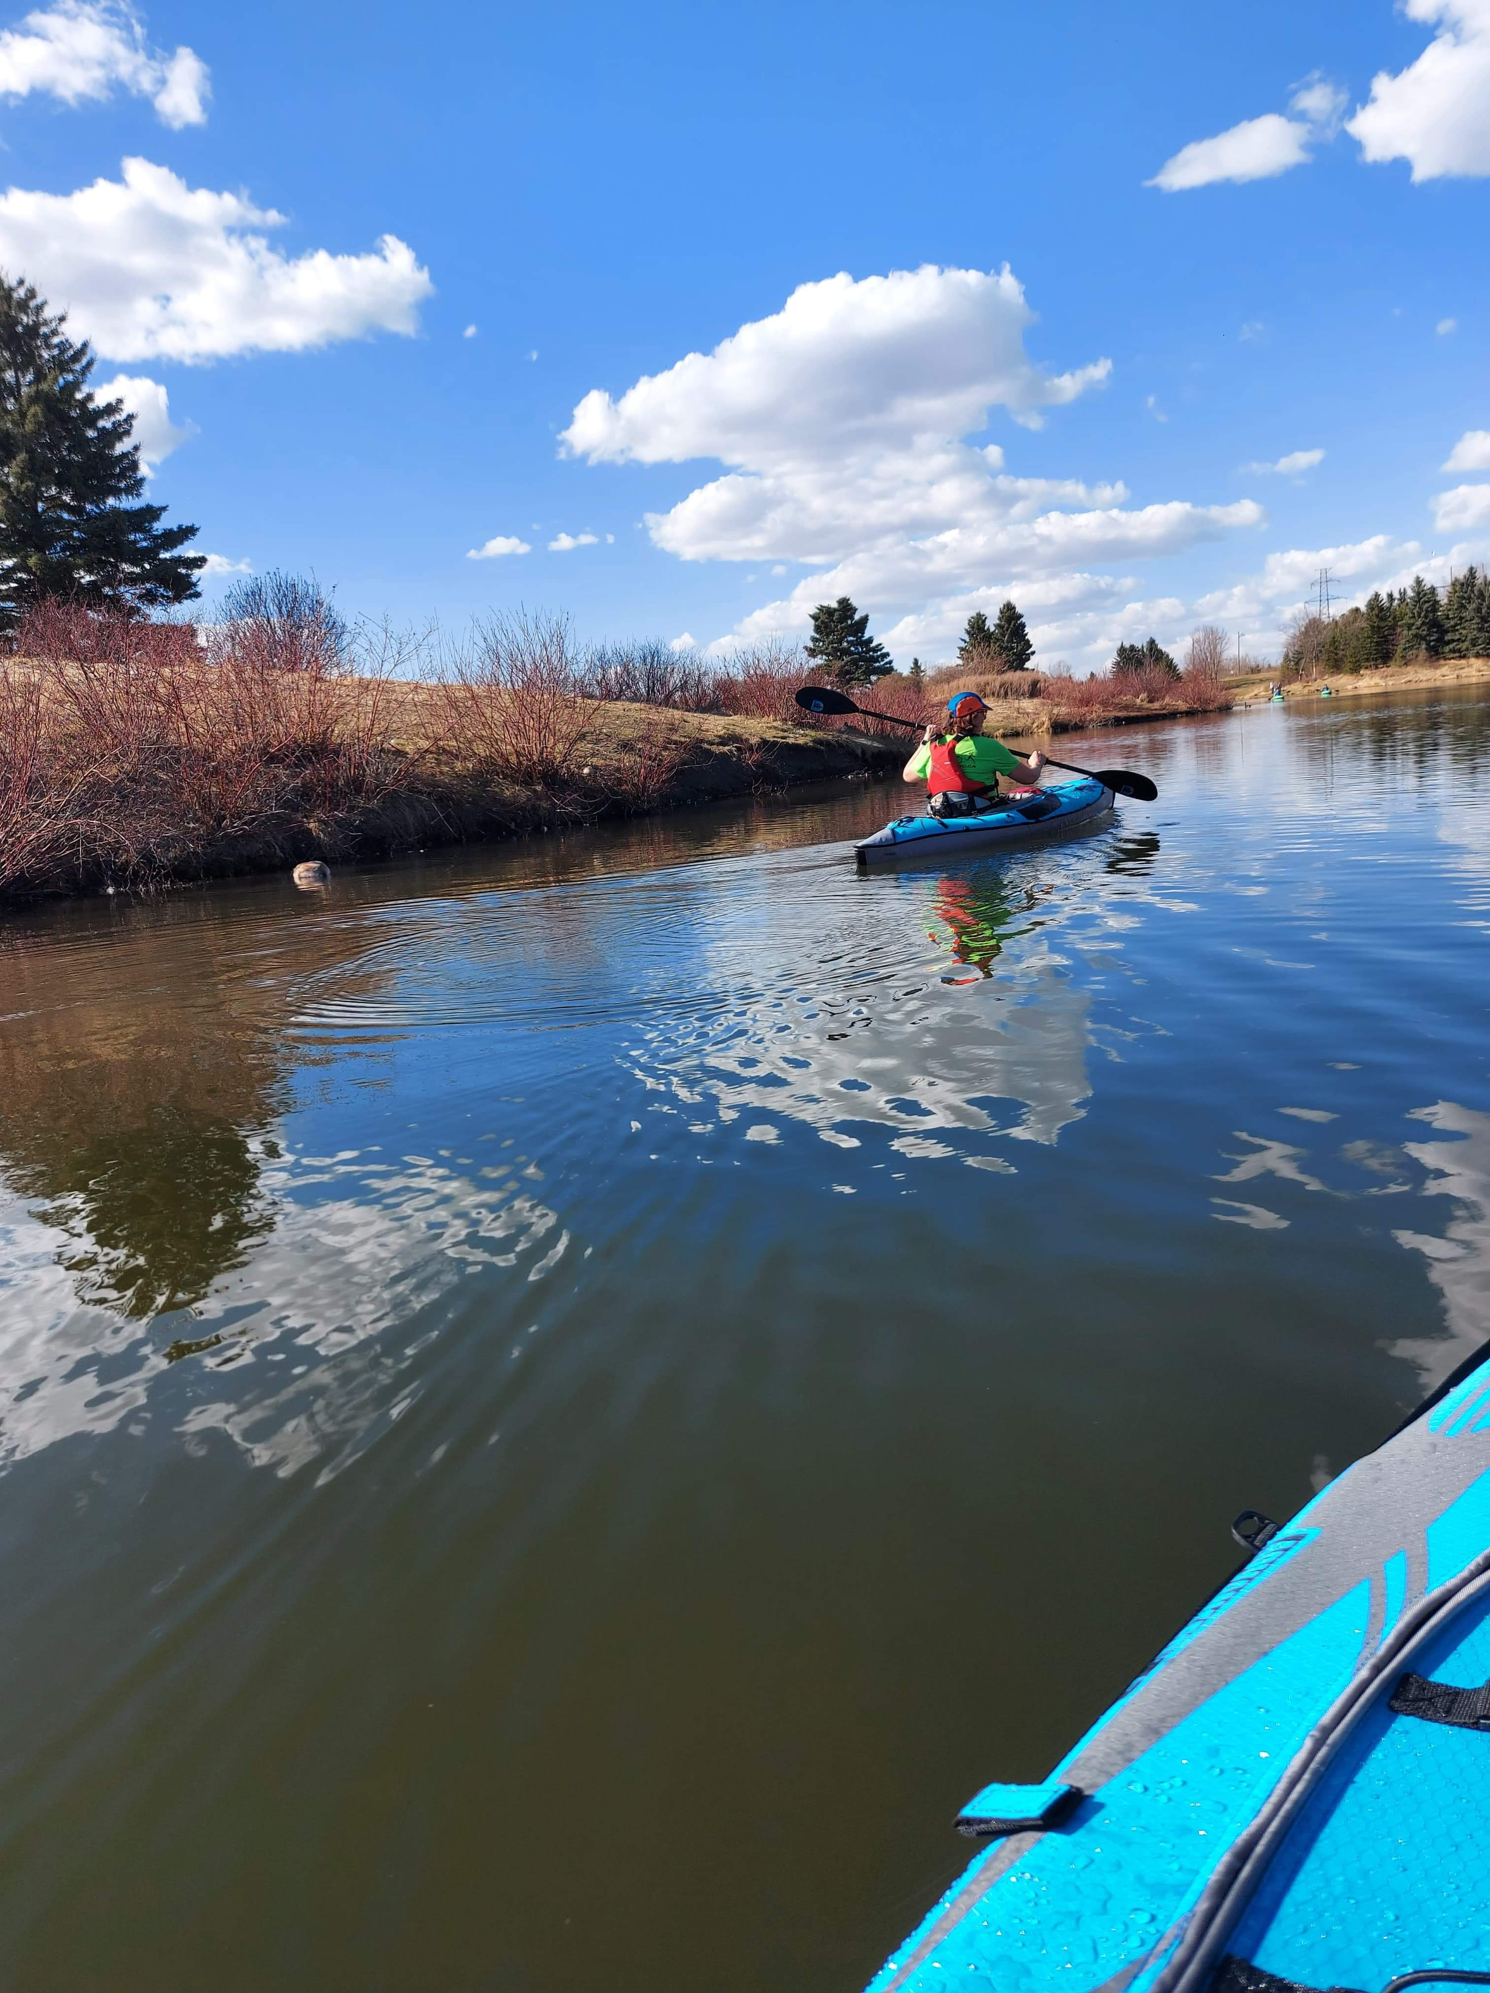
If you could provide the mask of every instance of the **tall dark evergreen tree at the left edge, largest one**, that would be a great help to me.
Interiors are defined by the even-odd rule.
[[[0,628],[44,596],[152,610],[197,594],[195,526],[162,526],[134,417],[88,391],[94,355],[30,283],[0,277]]]

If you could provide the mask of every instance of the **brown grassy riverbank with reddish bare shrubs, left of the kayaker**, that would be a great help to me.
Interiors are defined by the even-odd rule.
[[[898,771],[904,741],[453,680],[0,668],[0,903],[517,837]]]

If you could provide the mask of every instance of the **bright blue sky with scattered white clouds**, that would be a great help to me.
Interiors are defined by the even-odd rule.
[[[720,648],[848,590],[902,664],[1013,594],[1085,672],[1490,550],[1490,0],[0,20],[0,263],[217,568]]]

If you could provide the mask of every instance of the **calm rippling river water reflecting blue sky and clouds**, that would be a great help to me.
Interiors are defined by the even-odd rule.
[[[0,923],[0,1983],[860,1985],[1490,1335],[1490,706]]]

